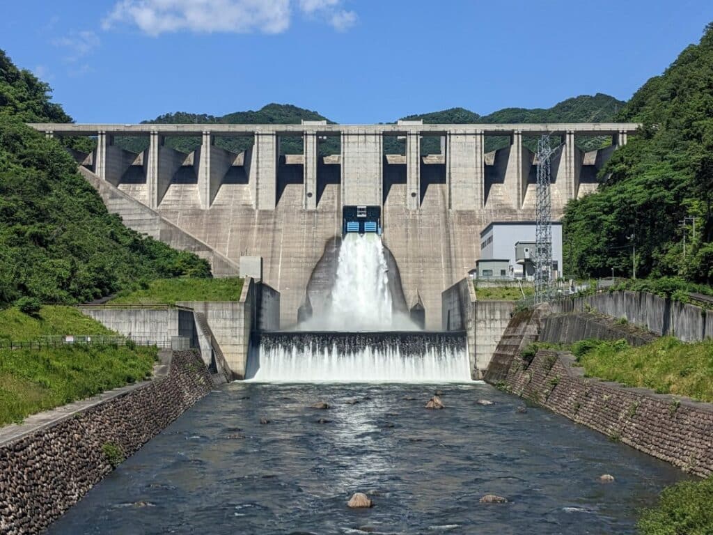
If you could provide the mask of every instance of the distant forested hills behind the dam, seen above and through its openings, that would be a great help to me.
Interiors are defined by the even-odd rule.
[[[612,121],[617,110],[624,106],[623,101],[597,93],[594,96],[582,95],[568,98],[552,108],[503,108],[486,116],[480,116],[466,108],[450,108],[430,113],[420,113],[402,117],[407,121],[422,119],[424,123],[431,124],[473,124],[473,123],[581,123]],[[304,121],[329,121],[317,111],[293,106],[292,104],[267,104],[257,111],[238,111],[225,116],[212,116],[205,113],[166,113],[151,121],[144,123],[221,123],[221,124],[299,124]],[[597,148],[605,142],[603,138],[582,139],[578,144],[590,150]],[[145,138],[118,138],[116,143],[129,151],[140,152],[147,147]],[[178,151],[195,151],[200,145],[200,138],[168,138],[168,146]],[[386,139],[386,151],[389,153],[403,153],[403,147],[396,140]],[[501,138],[488,138],[486,151],[492,151],[506,143]],[[217,146],[228,151],[240,153],[250,147],[250,138],[219,138]],[[533,143],[530,143],[533,144]],[[322,153],[335,153],[338,151],[337,143],[327,141],[327,146],[322,147]],[[439,141],[436,138],[424,140],[422,153],[436,153],[439,150]],[[302,153],[302,140],[299,137],[282,138],[282,152],[285,154]]]

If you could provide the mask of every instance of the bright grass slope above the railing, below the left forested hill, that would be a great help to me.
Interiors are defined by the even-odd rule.
[[[116,335],[74,307],[44,306],[33,317],[17,308],[0,310],[0,340],[26,342],[45,335]]]

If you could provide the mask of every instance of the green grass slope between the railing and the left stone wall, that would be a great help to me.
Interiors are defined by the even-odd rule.
[[[123,345],[0,350],[0,425],[144,379],[156,355]]]

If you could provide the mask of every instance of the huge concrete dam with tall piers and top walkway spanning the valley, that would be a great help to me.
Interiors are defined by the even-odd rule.
[[[523,141],[543,133],[561,139],[551,189],[559,219],[568,200],[595,190],[597,172],[639,125],[31,126],[47,136],[96,138],[92,153],[73,156],[130,228],[193,250],[210,260],[217,276],[238,275],[241,258],[262,258],[262,280],[279,291],[280,329],[322,306],[342,236],[355,230],[351,223],[381,235],[391,271],[399,275],[394,307],[420,318],[427,330],[441,330],[441,292],[480,258],[481,230],[493,221],[535,219],[537,161]],[[115,144],[120,136],[147,138],[148,148],[125,151]],[[200,146],[175,151],[165,146],[170,136],[198,137]],[[584,152],[575,145],[578,136],[611,136],[612,143]],[[247,137],[252,146],[231,153],[215,145],[221,137]],[[302,138],[303,153],[283,154],[284,137]],[[486,153],[489,137],[509,143]],[[404,143],[403,153],[385,153],[387,138]],[[422,151],[427,138],[438,138],[438,153]],[[327,141],[337,141],[338,153],[322,154]],[[350,210],[369,216],[359,223]]]

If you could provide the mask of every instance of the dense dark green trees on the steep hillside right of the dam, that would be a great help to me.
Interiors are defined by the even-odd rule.
[[[616,151],[597,193],[568,205],[572,275],[679,275],[713,282],[713,26],[617,116],[641,121]],[[695,234],[693,221],[696,218]],[[683,243],[686,242],[684,255]],[[569,261],[565,260],[565,265]]]

